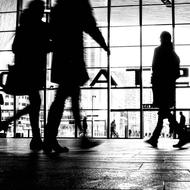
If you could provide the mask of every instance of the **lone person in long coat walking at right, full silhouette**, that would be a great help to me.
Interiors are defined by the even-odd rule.
[[[157,147],[158,138],[163,128],[163,120],[168,118],[169,126],[179,135],[179,143],[173,146],[181,147],[187,143],[187,139],[174,115],[170,112],[170,108],[175,104],[175,82],[180,76],[180,59],[173,49],[169,32],[163,31],[160,35],[160,41],[161,45],[154,51],[151,79],[153,105],[159,108],[158,122],[152,136],[146,142]]]

